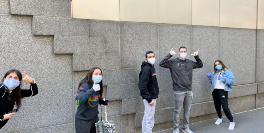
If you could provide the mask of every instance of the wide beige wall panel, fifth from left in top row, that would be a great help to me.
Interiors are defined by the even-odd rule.
[[[257,0],[220,0],[220,27],[257,28]]]

